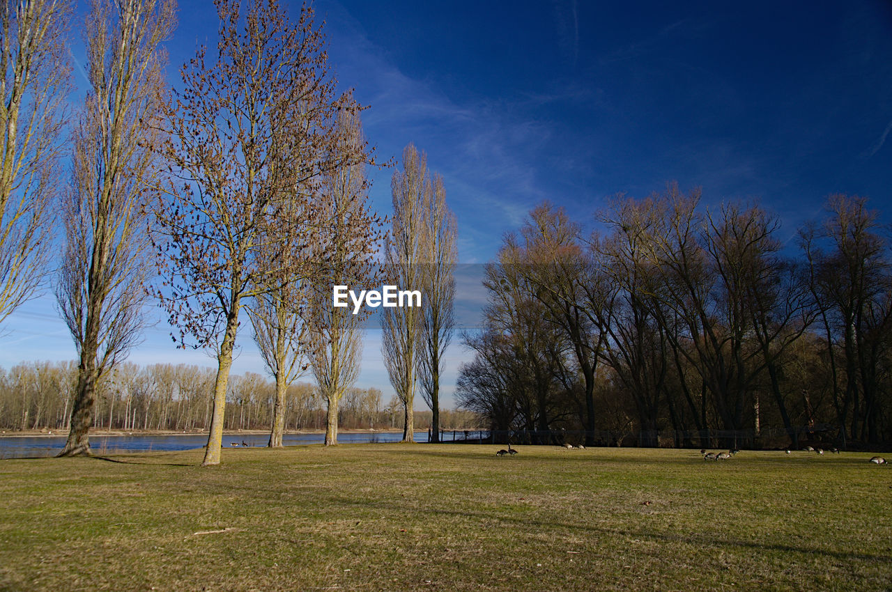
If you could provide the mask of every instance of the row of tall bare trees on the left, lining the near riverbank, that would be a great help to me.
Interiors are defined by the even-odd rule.
[[[337,90],[310,5],[292,22],[275,1],[219,0],[216,47],[200,47],[167,88],[162,43],[176,24],[174,0],[93,0],[82,29],[89,84],[71,125],[68,186],[56,182],[66,150],[67,3],[3,5],[0,320],[45,284],[53,229],[46,214],[58,197],[65,243],[53,284],[79,358],[60,456],[89,454],[99,385],[141,339],[151,296],[178,346],[216,353],[204,465],[219,464],[222,431],[233,422],[228,377],[245,314],[276,384],[269,446],[281,446],[289,386],[310,369],[328,409],[326,444],[335,444],[368,312],[333,308],[331,289],[381,283],[374,257],[385,234],[369,208],[366,168],[380,165],[362,133],[364,108]],[[413,268],[441,252],[454,261],[442,180],[432,188],[426,169],[419,179],[405,201],[417,205],[407,234]],[[403,352],[413,373],[417,360],[432,360],[425,392],[437,415],[451,272],[428,267],[394,277],[409,289],[447,286],[438,292],[443,314],[409,313],[413,342],[425,332],[434,345],[424,355]],[[408,397],[400,392],[410,441],[415,375],[408,378]]]

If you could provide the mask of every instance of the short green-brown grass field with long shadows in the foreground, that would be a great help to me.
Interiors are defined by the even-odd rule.
[[[498,448],[5,460],[0,588],[892,588],[869,454]]]

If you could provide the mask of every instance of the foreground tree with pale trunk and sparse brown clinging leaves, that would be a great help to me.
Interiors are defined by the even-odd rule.
[[[203,465],[220,460],[239,312],[277,283],[271,278],[295,272],[272,244],[288,245],[306,224],[285,216],[289,191],[337,164],[325,160],[333,141],[326,124],[339,109],[359,109],[335,94],[310,6],[296,25],[277,2],[252,3],[245,15],[235,0],[217,8],[218,59],[206,64],[200,49],[170,105],[164,152],[177,185],[157,209],[166,278],[159,296],[178,327],[174,339],[185,347],[189,336],[194,347],[217,351]],[[278,166],[283,155],[289,169]]]

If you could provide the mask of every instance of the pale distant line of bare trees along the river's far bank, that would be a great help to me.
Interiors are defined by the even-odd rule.
[[[93,425],[111,430],[206,430],[211,421],[214,376],[211,368],[186,364],[117,366],[99,384]],[[0,368],[0,428],[68,429],[78,377],[74,362],[23,362]],[[268,430],[276,384],[255,373],[234,374],[227,390],[227,430]],[[298,382],[287,391],[286,430],[322,430],[326,404],[315,385]],[[338,423],[345,429],[402,430],[402,403],[382,400],[376,388],[348,389]],[[442,428],[473,429],[478,415],[441,410]],[[426,430],[431,412],[417,412],[416,425]]]

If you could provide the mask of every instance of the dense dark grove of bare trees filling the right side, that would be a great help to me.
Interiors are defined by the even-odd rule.
[[[598,221],[583,235],[541,205],[487,267],[458,397],[494,429],[590,445],[892,440],[892,259],[866,200],[832,196],[788,242],[757,205],[707,209],[676,185]]]

